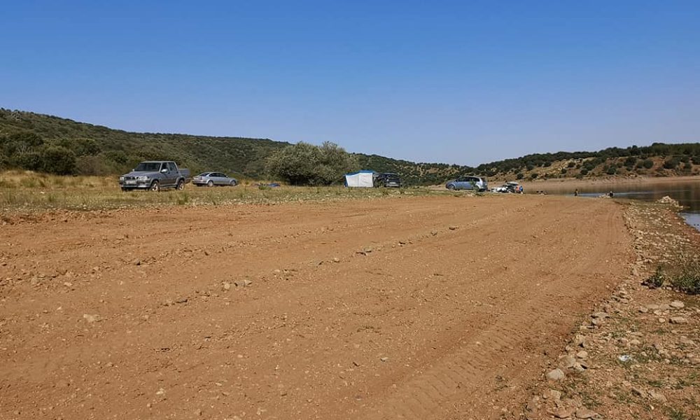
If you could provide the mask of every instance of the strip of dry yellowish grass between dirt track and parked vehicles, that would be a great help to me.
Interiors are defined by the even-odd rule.
[[[120,190],[116,177],[55,176],[34,172],[0,174],[0,210],[4,212],[44,210],[95,210],[149,206],[265,204],[297,201],[339,201],[395,195],[442,194],[427,188],[290,187],[259,188],[246,181],[234,188],[197,188],[183,191]],[[447,191],[444,191],[447,193]]]

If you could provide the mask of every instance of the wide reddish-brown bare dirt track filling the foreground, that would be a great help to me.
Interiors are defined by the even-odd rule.
[[[519,418],[632,259],[573,197],[2,226],[0,419]]]

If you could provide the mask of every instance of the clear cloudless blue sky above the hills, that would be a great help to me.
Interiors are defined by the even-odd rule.
[[[700,1],[4,1],[0,106],[477,165],[700,141]]]

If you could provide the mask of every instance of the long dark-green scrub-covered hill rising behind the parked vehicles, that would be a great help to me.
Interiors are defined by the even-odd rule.
[[[10,141],[10,137],[12,137]],[[134,133],[66,118],[0,109],[0,169],[38,169],[39,160],[60,160],[66,152],[74,167],[66,174],[119,174],[141,160],[175,160],[192,172],[216,170],[249,179],[265,177],[265,158],[289,146],[283,141],[244,137],[207,137],[188,134]],[[360,167],[401,174],[409,185],[441,183],[470,167],[414,163],[378,155],[356,154]]]

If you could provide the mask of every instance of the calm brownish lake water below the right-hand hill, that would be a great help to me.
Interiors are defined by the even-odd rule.
[[[568,191],[558,188],[558,186],[549,187],[547,186],[549,194],[573,195],[573,190],[570,190],[570,187],[567,188]],[[654,179],[616,184],[601,182],[594,186],[578,189],[579,195],[583,197],[598,197],[610,193],[610,191],[614,193],[615,197],[643,201],[656,201],[668,195],[684,207],[681,215],[685,221],[700,230],[700,177],[681,181]]]

